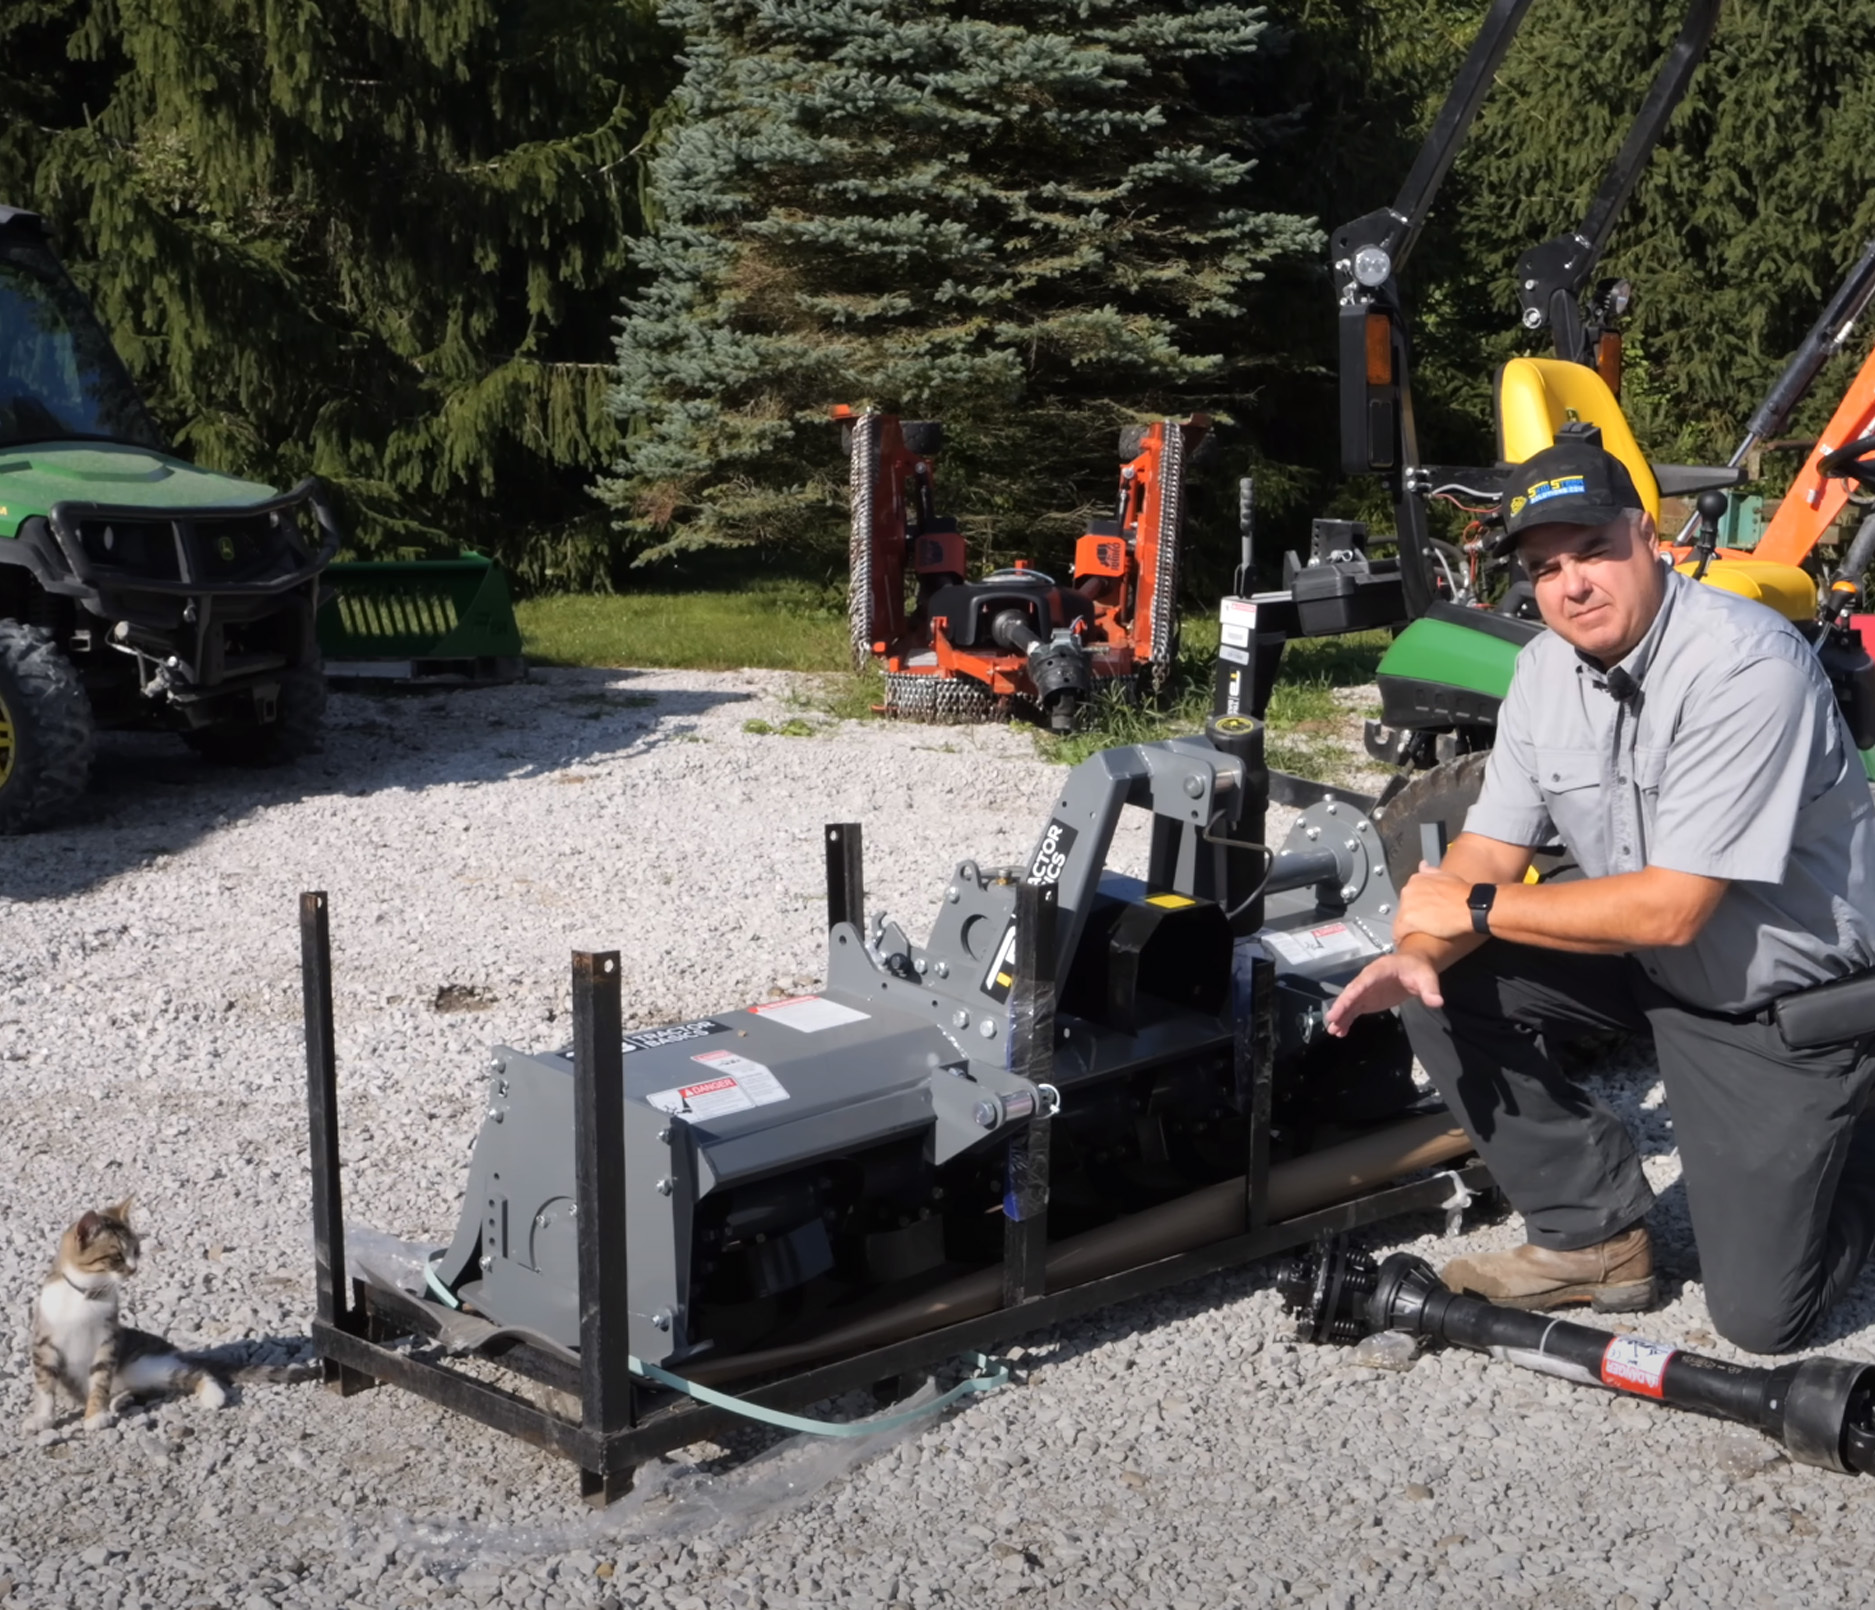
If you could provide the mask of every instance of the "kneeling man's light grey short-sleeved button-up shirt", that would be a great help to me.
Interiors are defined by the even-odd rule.
[[[1464,827],[1560,838],[1590,877],[1727,879],[1691,945],[1635,952],[1691,1006],[1755,1010],[1875,965],[1875,806],[1830,680],[1791,622],[1684,575],[1607,673],[1552,632],[1517,656]]]

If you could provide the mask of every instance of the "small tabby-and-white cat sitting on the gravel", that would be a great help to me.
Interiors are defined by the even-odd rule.
[[[195,1393],[210,1408],[227,1402],[227,1378],[206,1359],[178,1353],[161,1336],[118,1319],[118,1288],[137,1273],[139,1239],[131,1198],[86,1213],[58,1239],[58,1260],[32,1312],[32,1411],[26,1430],[58,1417],[60,1394],[84,1404],[84,1428],[103,1430],[131,1398]],[[304,1368],[242,1368],[240,1379],[304,1379]]]

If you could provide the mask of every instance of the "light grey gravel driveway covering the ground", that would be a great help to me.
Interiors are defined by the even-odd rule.
[[[112,740],[68,828],[0,840],[0,1603],[131,1606],[1864,1604],[1875,1488],[1712,1421],[1470,1353],[1298,1348],[1266,1269],[1026,1338],[1020,1383],[864,1449],[686,1449],[611,1511],[570,1466],[382,1389],[244,1389],[17,1432],[58,1231],[135,1192],[129,1314],[285,1361],[311,1310],[296,896],[332,896],[347,1216],[439,1245],[491,1042],[564,1042],[568,952],[626,1018],[812,988],[819,827],[922,935],[951,864],[1014,860],[1056,787],[1026,733],[834,723],[784,675],[549,671],[334,699],[324,755],[201,767]],[[1134,832],[1127,855],[1140,855]],[[1672,1132],[1607,1068],[1661,1192],[1672,1303],[1714,1342]],[[1444,1260],[1416,1218],[1374,1250]],[[1875,1357],[1875,1276],[1819,1338]],[[853,1406],[842,1406],[853,1408]]]

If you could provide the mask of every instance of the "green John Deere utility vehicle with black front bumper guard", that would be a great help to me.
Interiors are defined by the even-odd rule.
[[[98,729],[272,765],[321,744],[319,484],[197,469],[52,253],[0,206],[0,834],[84,791]]]

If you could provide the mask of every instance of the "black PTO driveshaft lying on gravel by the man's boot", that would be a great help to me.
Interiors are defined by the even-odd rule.
[[[1798,1464],[1875,1473],[1875,1364],[1800,1359],[1753,1368],[1706,1359],[1667,1342],[1466,1297],[1446,1289],[1423,1258],[1395,1252],[1376,1265],[1339,1237],[1286,1258],[1277,1286],[1305,1342],[1406,1331],[1566,1381],[1755,1426]]]

